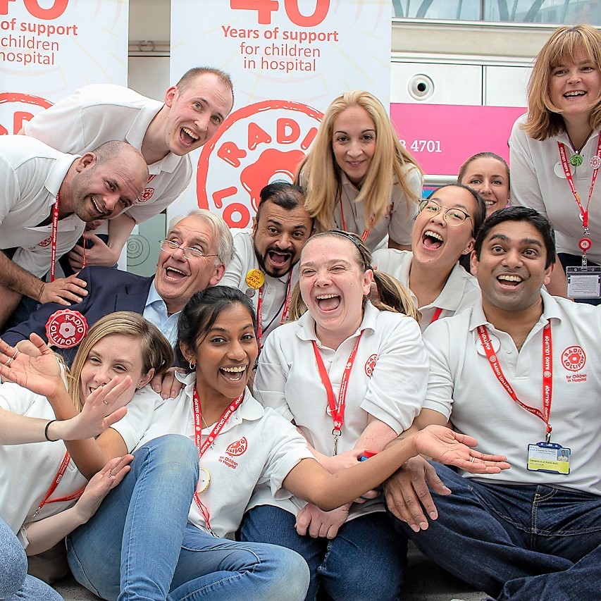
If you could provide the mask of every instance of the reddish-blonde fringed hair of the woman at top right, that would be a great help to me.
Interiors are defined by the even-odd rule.
[[[601,32],[590,25],[566,25],[555,30],[535,58],[534,67],[528,80],[528,116],[522,129],[534,140],[565,131],[562,111],[551,101],[549,84],[552,70],[563,61],[576,63],[578,54],[595,68],[601,66]],[[601,125],[601,98],[595,98],[590,105],[590,128]]]

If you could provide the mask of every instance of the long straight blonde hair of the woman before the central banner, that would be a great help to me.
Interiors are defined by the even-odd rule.
[[[419,198],[409,190],[404,167],[413,166],[419,173],[423,172],[399,142],[382,103],[363,90],[345,92],[328,106],[311,151],[300,163],[295,176],[295,184],[302,185],[305,190],[306,209],[322,231],[334,227],[334,208],[342,194],[342,170],[337,165],[332,150],[334,121],[342,111],[352,106],[359,106],[367,111],[376,125],[376,150],[357,197],[357,202],[364,202],[366,215],[373,215],[376,222],[383,217],[390,204],[394,184],[392,175],[401,187],[407,203],[419,202]]]

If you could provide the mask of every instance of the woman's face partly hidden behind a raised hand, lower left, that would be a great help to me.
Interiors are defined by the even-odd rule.
[[[92,347],[80,375],[82,399],[99,386],[108,384],[115,376],[130,376],[132,383],[121,393],[115,407],[118,409],[130,401],[136,388],[149,383],[154,369],[143,373],[142,347],[135,342],[132,336],[110,334]]]

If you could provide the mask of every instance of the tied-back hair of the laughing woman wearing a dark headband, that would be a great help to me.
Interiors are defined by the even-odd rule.
[[[365,243],[361,238],[351,232],[343,232],[342,230],[332,230],[330,232],[322,232],[309,238],[307,244],[311,240],[316,240],[320,237],[343,237],[354,244],[356,252],[353,253],[353,259],[357,262],[359,268],[362,271],[369,271],[373,268],[371,266],[371,252],[366,247]],[[305,244],[306,246],[306,244]],[[392,311],[393,313],[402,313],[409,317],[414,318],[418,323],[421,321],[421,313],[416,308],[409,291],[402,283],[392,275],[383,273],[382,271],[373,271],[373,281],[376,284],[376,291],[373,290],[367,297],[364,297],[364,301],[369,300],[373,306],[379,311]],[[300,286],[297,283],[292,288],[292,295],[290,296],[290,314],[288,321],[297,321],[297,319],[306,313],[306,304],[302,299],[300,292]]]

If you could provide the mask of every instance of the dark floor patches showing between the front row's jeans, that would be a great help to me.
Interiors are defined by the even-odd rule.
[[[69,576],[55,586],[66,601],[94,601],[98,597],[78,585]],[[409,570],[407,573],[403,601],[481,601],[486,595],[473,590],[469,585],[440,569],[426,557],[409,547]],[[268,601],[268,600],[266,600]]]

